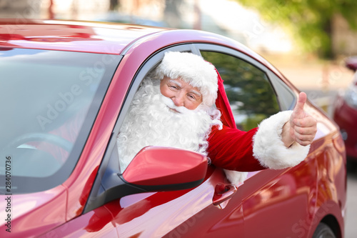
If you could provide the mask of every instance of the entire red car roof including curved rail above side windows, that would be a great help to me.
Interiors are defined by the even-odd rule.
[[[139,45],[141,50],[149,52],[189,43],[220,44],[236,49],[282,76],[266,59],[248,47],[208,31],[98,21],[0,19],[0,51],[24,48],[126,55]]]

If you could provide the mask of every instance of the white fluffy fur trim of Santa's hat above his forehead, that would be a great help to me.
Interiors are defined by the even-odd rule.
[[[216,69],[201,56],[188,52],[166,52],[155,74],[159,79],[164,79],[164,76],[171,79],[181,78],[191,86],[197,87],[206,106],[212,106],[216,101],[218,90]]]

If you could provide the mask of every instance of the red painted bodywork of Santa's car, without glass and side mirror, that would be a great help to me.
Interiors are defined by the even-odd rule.
[[[328,214],[336,218],[343,237],[346,169],[341,135],[336,125],[309,102],[305,109],[316,118],[318,133],[305,161],[291,169],[249,173],[248,179],[238,184],[233,197],[221,206],[213,205],[215,187],[228,181],[222,169],[209,166],[206,179],[196,188],[133,194],[83,212],[96,178],[103,175],[100,174],[103,173],[102,160],[109,142],[116,136],[114,128],[128,92],[134,87],[141,67],[157,52],[180,45],[197,51],[194,44],[202,43],[226,46],[266,66],[296,96],[298,90],[258,54],[236,41],[204,31],[69,21],[1,20],[0,23],[2,50],[34,47],[123,56],[70,177],[48,191],[14,195],[13,206],[15,201],[21,204],[22,201],[40,201],[22,210],[21,215],[14,213],[12,228],[19,232],[14,237],[24,237],[24,234],[29,237],[40,234],[43,237],[91,237],[94,234],[102,237],[268,237],[267,232],[272,229],[282,237],[311,237],[318,222]],[[29,40],[34,39],[34,35],[26,35],[34,34],[34,29],[41,29],[41,37],[36,41]],[[24,39],[26,37],[29,39]],[[108,56],[101,62],[105,65],[111,60],[114,59]],[[4,199],[0,204],[1,207],[6,205]],[[281,213],[274,214],[277,210]],[[1,216],[6,216],[3,213],[1,210]],[[261,229],[256,229],[257,224]],[[279,224],[283,224],[283,228]],[[6,234],[4,229],[0,234]]]

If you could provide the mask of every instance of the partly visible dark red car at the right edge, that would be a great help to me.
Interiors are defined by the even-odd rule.
[[[357,69],[357,57],[346,60],[346,67],[353,71]],[[353,170],[357,167],[357,74],[348,88],[342,94],[338,94],[333,107],[333,120],[341,129],[345,140],[348,167]],[[353,168],[354,167],[354,168]]]

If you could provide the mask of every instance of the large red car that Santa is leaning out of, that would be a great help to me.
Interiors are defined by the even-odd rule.
[[[119,172],[116,135],[165,51],[216,66],[241,129],[293,109],[298,90],[258,54],[204,31],[0,22],[0,237],[343,237],[345,147],[310,102],[296,167],[229,184],[201,154],[146,147]]]

